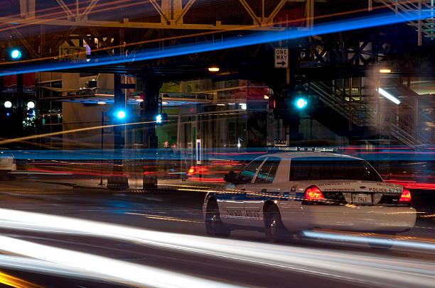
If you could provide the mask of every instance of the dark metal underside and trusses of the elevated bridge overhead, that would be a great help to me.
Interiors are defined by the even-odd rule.
[[[88,45],[92,51],[89,57],[112,57],[147,49],[164,50],[186,43],[243,38],[253,31],[311,29],[315,21],[327,21],[322,20],[323,15],[346,11],[365,10],[361,13],[370,15],[375,13],[373,11],[406,14],[434,9],[431,1],[402,0],[119,0],[119,9],[110,6],[109,1],[99,0],[87,1],[86,4],[56,0],[57,7],[51,4],[38,6],[43,2],[21,0],[16,16],[0,17],[0,23],[5,26],[0,29],[4,31],[0,36],[0,46],[21,45],[26,48],[29,57],[41,62],[58,62],[63,45]],[[392,78],[388,82],[392,89],[404,89],[403,81],[397,79],[414,75],[434,77],[435,52],[430,45],[434,39],[433,26],[434,19],[429,18],[395,26],[62,72],[129,74],[156,82],[204,77],[216,80],[252,79],[266,83],[274,92],[303,77],[323,104],[348,118],[351,130],[353,126],[373,126],[370,119],[380,112],[370,110],[372,106],[360,100],[349,104],[349,100],[345,100],[345,90],[337,93],[333,81],[345,79],[349,82],[353,77],[373,78],[376,76],[373,71],[379,65],[392,68],[393,72],[388,75]],[[289,48],[289,70],[274,68],[273,50],[277,47]],[[316,65],[304,67],[302,62]],[[218,65],[220,72],[208,72],[210,65]],[[14,65],[6,65],[4,70],[8,67],[13,68]],[[371,97],[370,101],[377,101],[377,94],[371,92],[367,96]],[[417,95],[411,93],[409,102],[415,97]],[[352,101],[353,97],[348,99]],[[412,105],[414,110],[418,108],[409,104]],[[402,124],[393,125],[390,134],[407,145],[425,143],[425,139],[413,132],[415,123]],[[377,133],[382,134],[382,131]]]

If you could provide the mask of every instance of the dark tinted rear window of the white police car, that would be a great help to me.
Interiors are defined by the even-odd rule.
[[[364,160],[342,157],[297,157],[291,159],[290,181],[351,179],[382,182]]]

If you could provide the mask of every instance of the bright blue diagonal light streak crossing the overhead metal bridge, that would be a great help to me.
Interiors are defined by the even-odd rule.
[[[18,67],[13,70],[3,70],[0,76],[28,73],[28,72],[44,72],[55,70],[67,70],[80,67],[95,67],[101,65],[112,65],[125,62],[134,62],[141,60],[151,60],[161,57],[173,57],[179,55],[187,55],[198,52],[208,52],[215,50],[223,50],[229,48],[237,48],[247,45],[257,45],[261,43],[269,43],[279,40],[289,40],[295,38],[304,38],[311,35],[322,35],[328,33],[336,33],[342,31],[351,31],[356,29],[370,28],[375,26],[385,26],[406,21],[415,21],[423,18],[430,18],[430,14],[426,11],[409,12],[403,14],[380,14],[370,17],[359,17],[347,19],[344,21],[336,21],[332,23],[323,23],[315,26],[312,30],[296,31],[262,31],[244,35],[243,37],[228,38],[220,42],[205,41],[202,43],[190,43],[186,45],[175,45],[166,50],[146,50],[132,55],[118,55],[114,57],[100,57],[97,59],[90,59],[89,62],[58,62],[58,63],[45,63],[41,65],[26,65],[26,67]]]

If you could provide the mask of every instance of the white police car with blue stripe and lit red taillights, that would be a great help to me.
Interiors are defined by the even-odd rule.
[[[385,183],[363,159],[326,151],[287,148],[225,175],[228,184],[205,196],[206,232],[254,229],[274,242],[313,228],[395,234],[414,227],[408,189]]]

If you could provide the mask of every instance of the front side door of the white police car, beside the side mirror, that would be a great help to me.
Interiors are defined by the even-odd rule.
[[[265,157],[262,157],[249,162],[240,172],[240,182],[234,186],[231,185],[231,188],[227,189],[227,193],[225,193],[227,196],[222,197],[224,199],[220,203],[222,207],[220,208],[220,215],[224,223],[246,225],[244,202],[247,199],[247,191],[252,189],[254,176],[257,175],[257,171],[265,159]]]

